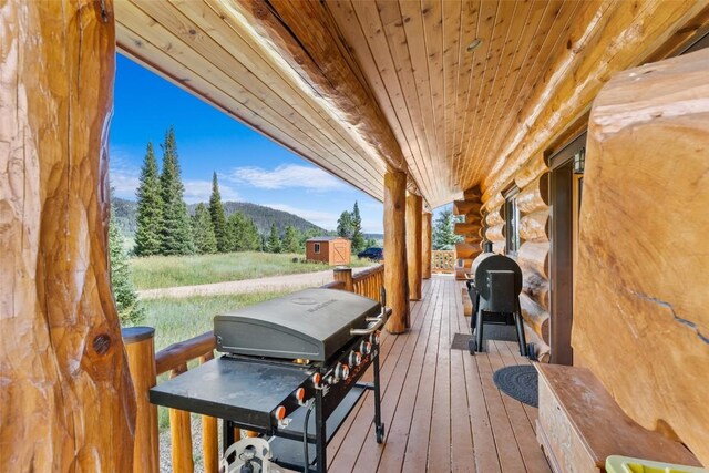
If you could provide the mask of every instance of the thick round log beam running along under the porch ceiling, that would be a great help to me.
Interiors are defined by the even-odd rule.
[[[274,61],[290,68],[323,110],[347,125],[360,146],[391,169],[409,173],[389,122],[321,2],[254,0],[234,2],[229,11]],[[412,176],[409,191],[420,194]]]

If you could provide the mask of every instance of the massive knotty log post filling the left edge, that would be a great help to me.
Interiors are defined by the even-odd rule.
[[[136,407],[107,258],[115,37],[103,4],[0,7],[0,471],[132,470]]]

